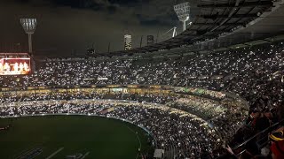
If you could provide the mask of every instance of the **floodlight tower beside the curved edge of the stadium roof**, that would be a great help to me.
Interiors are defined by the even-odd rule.
[[[186,29],[186,21],[189,20],[190,5],[188,2],[174,5],[174,10],[177,13],[177,17],[183,22],[183,31]]]

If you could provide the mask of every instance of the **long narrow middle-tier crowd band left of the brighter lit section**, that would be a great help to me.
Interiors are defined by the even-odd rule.
[[[177,100],[178,95],[164,94],[127,94],[117,93],[99,93],[95,91],[72,91],[72,92],[52,92],[52,93],[5,93],[0,95],[0,103],[7,102],[27,102],[27,101],[46,101],[46,100],[76,100],[76,99],[118,99],[137,102],[153,102],[165,104]]]

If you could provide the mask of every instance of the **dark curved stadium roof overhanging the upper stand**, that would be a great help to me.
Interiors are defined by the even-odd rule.
[[[123,56],[172,49],[200,42],[248,42],[283,31],[283,0],[201,0],[198,15],[185,32],[154,45],[100,53],[98,56]]]

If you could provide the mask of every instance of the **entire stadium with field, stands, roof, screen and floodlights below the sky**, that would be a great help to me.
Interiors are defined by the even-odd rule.
[[[20,19],[28,49],[0,49],[0,158],[283,159],[283,4],[201,0],[190,22],[176,4],[179,34],[80,56],[37,53],[40,19]]]

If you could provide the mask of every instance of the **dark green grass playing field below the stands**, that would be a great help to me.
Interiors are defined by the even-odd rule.
[[[44,116],[0,119],[0,127],[12,124],[9,130],[0,131],[0,158],[17,158],[24,153],[42,148],[36,158],[51,158],[81,153],[85,158],[134,159],[151,149],[148,134],[135,125],[106,117]],[[137,133],[136,133],[137,132]]]

